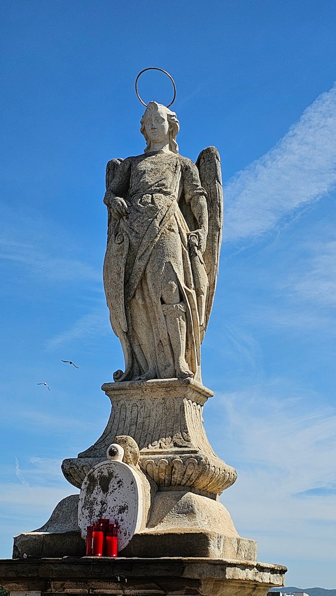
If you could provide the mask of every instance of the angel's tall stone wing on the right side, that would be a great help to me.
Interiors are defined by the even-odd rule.
[[[203,254],[208,275],[204,327],[201,329],[201,342],[208,325],[217,283],[220,247],[223,229],[223,185],[221,181],[220,155],[215,147],[206,147],[198,156],[196,166],[202,187],[206,190],[209,216],[209,232]]]

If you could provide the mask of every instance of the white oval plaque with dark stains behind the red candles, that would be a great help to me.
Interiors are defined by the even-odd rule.
[[[118,524],[118,551],[128,545],[141,526],[141,482],[132,468],[116,460],[95,465],[84,479],[78,504],[82,538],[100,517]]]

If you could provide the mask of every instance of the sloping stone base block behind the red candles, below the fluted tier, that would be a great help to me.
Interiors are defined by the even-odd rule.
[[[84,555],[78,497],[63,499],[38,530],[14,536],[13,558],[23,557],[24,552],[34,557]],[[238,535],[229,511],[220,502],[187,491],[158,491],[153,496],[147,527],[134,534],[121,554],[257,561],[257,542]]]

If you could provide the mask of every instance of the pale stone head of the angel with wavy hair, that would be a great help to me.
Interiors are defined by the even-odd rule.
[[[175,141],[180,123],[177,120],[175,112],[172,112],[165,105],[150,101],[146,107],[143,117],[140,120],[140,132],[146,139],[147,147],[144,150],[150,150],[150,144],[156,139],[161,140],[160,135],[167,135],[169,139],[169,150],[172,153],[178,153],[178,144]],[[152,138],[150,138],[150,136]],[[157,141],[158,142],[158,141]]]

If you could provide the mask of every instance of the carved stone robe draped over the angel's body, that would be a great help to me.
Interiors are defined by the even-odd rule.
[[[129,210],[118,221],[110,217],[104,260],[110,321],[126,364],[115,380],[134,380],[149,370],[152,378],[176,376],[161,300],[161,276],[168,266],[186,308],[186,362],[201,381],[199,312],[182,215],[199,195],[206,192],[195,163],[163,151],[128,157],[107,188],[107,196],[123,197]]]

